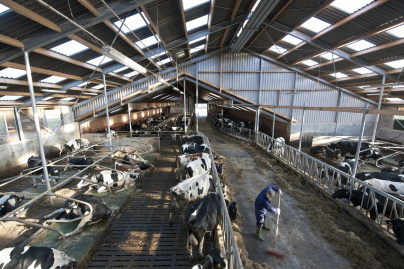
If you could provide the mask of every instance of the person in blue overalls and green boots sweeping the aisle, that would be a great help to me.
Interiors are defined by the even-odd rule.
[[[261,229],[270,230],[269,226],[266,224],[266,215],[267,210],[279,215],[281,213],[280,208],[275,208],[271,206],[271,200],[275,196],[275,192],[279,195],[282,195],[282,191],[275,187],[274,185],[269,185],[265,189],[263,189],[260,194],[258,194],[257,198],[255,198],[255,218],[257,219],[257,227],[255,229],[255,235],[261,241],[264,241],[264,238],[261,235]]]

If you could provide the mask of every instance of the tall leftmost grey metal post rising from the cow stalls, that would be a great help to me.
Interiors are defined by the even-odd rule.
[[[29,63],[29,57],[28,57],[27,51],[24,51],[24,59],[25,59],[25,68],[27,70],[28,89],[29,89],[29,95],[31,97],[32,113],[34,115],[36,136],[38,139],[39,153],[41,155],[41,161],[42,161],[42,167],[43,167],[43,175],[44,175],[45,182],[46,182],[46,189],[49,191],[51,189],[51,187],[50,187],[50,182],[49,182],[48,166],[46,165],[47,163],[46,163],[46,158],[45,158],[45,151],[43,149],[43,144],[42,144],[42,139],[41,139],[41,127],[39,126],[39,118],[38,118],[38,114],[36,111],[34,86],[32,83],[31,66]],[[53,205],[53,199],[51,197],[49,197],[49,202],[51,205]]]

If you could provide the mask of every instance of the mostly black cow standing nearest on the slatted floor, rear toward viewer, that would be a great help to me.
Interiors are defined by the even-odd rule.
[[[220,198],[217,193],[209,193],[195,202],[185,218],[187,249],[190,260],[194,260],[193,246],[198,246],[199,257],[203,258],[202,248],[206,232],[211,232],[221,220]]]

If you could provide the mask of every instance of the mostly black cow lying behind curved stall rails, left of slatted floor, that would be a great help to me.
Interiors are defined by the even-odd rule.
[[[86,204],[74,201],[67,201],[64,208],[58,209],[51,214],[43,217],[43,219],[48,219],[53,215],[65,212],[66,215],[62,219],[71,219],[72,221],[81,219],[77,228],[74,231],[65,234],[65,237],[80,233],[86,224],[92,225],[101,220],[107,219],[112,213],[112,211],[105,205],[105,203],[103,203],[101,199],[96,196],[81,194],[76,195],[73,198],[89,203],[93,209],[92,213],[90,208]]]

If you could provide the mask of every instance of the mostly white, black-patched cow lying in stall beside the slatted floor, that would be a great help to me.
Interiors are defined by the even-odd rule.
[[[82,177],[82,180],[77,184],[77,188],[87,185],[97,184],[95,188],[98,193],[106,192],[107,188],[120,188],[115,193],[125,191],[133,186],[140,178],[140,173],[121,172],[113,170],[103,170],[88,178],[88,175]],[[99,186],[103,185],[103,186]]]

